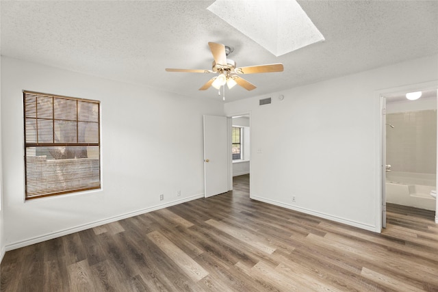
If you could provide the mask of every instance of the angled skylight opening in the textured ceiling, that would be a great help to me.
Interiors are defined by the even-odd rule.
[[[216,0],[207,9],[276,57],[325,40],[295,0]]]

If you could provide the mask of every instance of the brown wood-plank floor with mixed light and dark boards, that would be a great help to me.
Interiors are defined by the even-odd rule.
[[[234,191],[6,252],[1,291],[438,291],[434,212],[376,234]]]

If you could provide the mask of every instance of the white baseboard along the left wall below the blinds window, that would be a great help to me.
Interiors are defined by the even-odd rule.
[[[38,237],[33,237],[33,238],[30,238],[30,239],[25,239],[23,241],[17,241],[17,242],[14,242],[14,243],[10,243],[10,244],[6,245],[5,248],[3,249],[3,251],[2,251],[3,253],[1,254],[1,258],[3,258],[3,254],[5,253],[5,251],[15,250],[17,248],[23,248],[23,247],[25,247],[27,245],[31,245],[31,244],[34,244],[34,243],[39,243],[39,242],[42,242],[42,241],[47,241],[47,240],[50,240],[50,239],[54,239],[56,237],[62,237],[64,235],[69,235],[71,233],[77,233],[77,232],[82,231],[82,230],[86,230],[86,229],[89,229],[89,228],[94,228],[96,226],[101,226],[103,224],[108,224],[108,223],[111,223],[111,222],[116,222],[118,220],[123,220],[123,219],[129,218],[129,217],[133,217],[133,216],[136,216],[136,215],[142,215],[144,213],[149,213],[151,211],[156,211],[156,210],[159,210],[159,209],[167,208],[167,207],[170,207],[170,206],[174,206],[176,204],[181,204],[183,202],[189,202],[191,200],[196,200],[198,198],[204,198],[204,194],[198,194],[198,195],[190,196],[190,197],[187,197],[187,198],[182,198],[180,200],[175,200],[175,201],[172,201],[172,202],[167,202],[166,204],[159,204],[159,205],[156,205],[156,206],[153,206],[153,207],[140,209],[140,210],[137,210],[137,211],[133,211],[133,212],[117,215],[117,216],[114,216],[114,217],[109,217],[107,219],[98,220],[98,221],[95,221],[95,222],[90,222],[88,224],[83,224],[83,225],[75,226],[75,227],[72,227],[72,228],[67,228],[67,229],[64,229],[64,230],[57,231],[55,233],[49,233],[47,235],[41,235],[41,236],[38,236]]]

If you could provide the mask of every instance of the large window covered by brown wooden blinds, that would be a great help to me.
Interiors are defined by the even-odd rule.
[[[23,92],[26,200],[99,189],[99,101]]]

